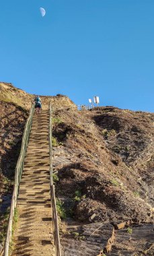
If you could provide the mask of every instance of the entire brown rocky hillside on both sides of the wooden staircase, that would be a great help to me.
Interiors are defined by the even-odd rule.
[[[22,132],[34,95],[0,83],[1,241]],[[65,256],[153,255],[154,114],[113,106],[53,106],[53,156]]]

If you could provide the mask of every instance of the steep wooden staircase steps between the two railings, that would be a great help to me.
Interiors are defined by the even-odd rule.
[[[49,111],[34,114],[17,198],[11,255],[54,256],[48,144]]]

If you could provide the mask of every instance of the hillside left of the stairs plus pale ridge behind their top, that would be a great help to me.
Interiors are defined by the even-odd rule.
[[[54,106],[73,106],[66,96],[42,96],[43,109],[48,109],[52,100]],[[17,158],[20,154],[22,133],[34,95],[15,88],[12,84],[0,82],[0,244],[3,241],[5,214],[10,205],[13,177]],[[0,249],[1,251],[1,249]]]

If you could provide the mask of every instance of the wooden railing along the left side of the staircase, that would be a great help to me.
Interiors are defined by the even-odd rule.
[[[17,166],[15,168],[15,184],[13,187],[13,195],[11,198],[11,207],[10,207],[10,212],[9,212],[9,224],[7,226],[7,236],[6,236],[5,245],[4,245],[4,256],[9,255],[9,245],[11,243],[11,238],[12,238],[13,217],[14,217],[15,207],[17,204],[17,194],[18,194],[18,190],[19,190],[19,186],[20,186],[20,181],[22,178],[22,171],[24,168],[24,159],[26,156],[28,139],[29,139],[30,130],[32,127],[33,114],[34,114],[34,104],[32,104],[32,108],[30,109],[30,115],[28,117],[28,120],[26,121],[24,133],[22,136],[22,148],[20,151],[20,156],[17,160]]]

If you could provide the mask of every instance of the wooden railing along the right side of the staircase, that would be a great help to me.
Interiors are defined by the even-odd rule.
[[[50,121],[49,121],[49,152],[50,152],[50,200],[52,206],[52,227],[54,232],[55,256],[61,256],[61,243],[59,236],[59,218],[56,211],[56,197],[53,184],[53,166],[52,166],[52,104],[50,102]]]

